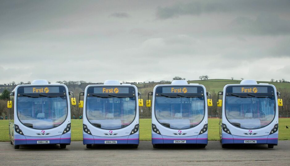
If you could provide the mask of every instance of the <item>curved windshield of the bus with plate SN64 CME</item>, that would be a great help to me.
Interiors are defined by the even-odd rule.
[[[17,115],[21,123],[33,129],[61,125],[68,112],[67,97],[17,97]]]

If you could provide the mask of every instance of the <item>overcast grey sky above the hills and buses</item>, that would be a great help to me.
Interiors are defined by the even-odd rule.
[[[290,1],[0,0],[0,84],[290,81]]]

